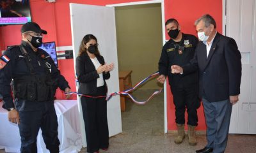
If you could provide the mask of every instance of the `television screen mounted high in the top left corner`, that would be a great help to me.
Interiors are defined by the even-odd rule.
[[[31,22],[29,0],[0,0],[0,24]]]

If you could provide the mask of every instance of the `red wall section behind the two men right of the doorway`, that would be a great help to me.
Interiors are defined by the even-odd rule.
[[[165,19],[177,18],[183,33],[194,34],[196,29],[194,22],[197,18],[209,13],[216,20],[217,30],[222,33],[222,1],[209,0],[170,0],[164,1]],[[166,33],[166,38],[169,39]],[[172,93],[170,87],[167,87],[167,117],[168,130],[176,129],[175,127],[175,106],[173,105]],[[187,117],[187,114],[186,114]],[[186,120],[187,122],[187,120]],[[196,130],[205,130],[204,108],[198,109],[198,126]]]

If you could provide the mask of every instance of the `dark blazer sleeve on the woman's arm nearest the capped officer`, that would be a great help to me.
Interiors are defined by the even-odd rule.
[[[85,71],[85,60],[83,55],[76,58],[76,75],[78,82],[86,83],[99,78],[97,70],[86,72]]]

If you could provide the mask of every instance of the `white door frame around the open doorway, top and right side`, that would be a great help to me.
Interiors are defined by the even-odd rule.
[[[138,1],[138,2],[130,2],[130,3],[118,3],[118,4],[107,4],[108,7],[117,7],[117,6],[132,6],[138,4],[155,4],[161,3],[161,18],[162,18],[162,40],[163,45],[166,43],[166,36],[165,36],[165,16],[164,16],[164,0],[152,0],[152,1]],[[167,92],[166,92],[166,80],[164,82],[164,133],[167,133]]]

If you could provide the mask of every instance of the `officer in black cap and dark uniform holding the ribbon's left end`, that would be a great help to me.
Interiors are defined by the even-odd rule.
[[[70,87],[51,56],[38,48],[47,31],[35,22],[22,25],[20,31],[21,44],[9,48],[1,57],[0,94],[3,95],[3,108],[8,110],[10,122],[19,124],[20,152],[37,152],[39,128],[42,129],[46,148],[50,152],[59,152],[54,94],[57,87],[65,92],[70,92]],[[10,86],[12,80],[14,104]]]

